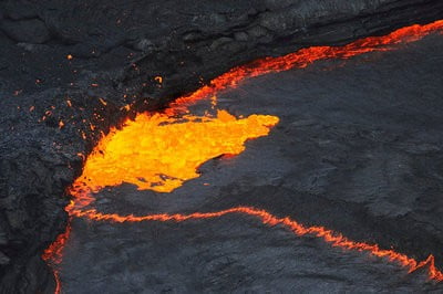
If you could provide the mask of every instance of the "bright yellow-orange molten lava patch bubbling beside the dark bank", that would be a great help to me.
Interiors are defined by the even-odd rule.
[[[92,191],[123,182],[140,190],[171,192],[185,180],[197,178],[196,169],[224,154],[245,150],[245,141],[269,133],[278,123],[270,115],[236,118],[226,111],[217,117],[141,114],[122,129],[112,129],[87,157],[75,185]]]

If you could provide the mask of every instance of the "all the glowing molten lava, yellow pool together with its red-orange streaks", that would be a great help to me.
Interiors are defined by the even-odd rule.
[[[87,157],[82,176],[71,188],[74,200],[66,207],[66,211],[70,217],[115,222],[179,222],[243,213],[256,217],[265,224],[284,225],[297,235],[312,234],[333,246],[364,251],[384,258],[405,266],[410,272],[426,265],[430,279],[443,281],[443,273],[435,267],[433,255],[418,262],[393,250],[383,250],[377,244],[353,242],[326,228],[303,227],[289,218],[277,218],[256,208],[238,207],[218,212],[143,217],[105,214],[87,208],[94,200],[92,192],[122,182],[132,182],[138,189],[172,191],[185,180],[198,177],[196,169],[206,160],[223,154],[241,153],[247,139],[266,136],[269,128],[278,123],[275,116],[251,115],[247,118],[236,118],[224,111],[219,111],[216,117],[185,115],[177,118],[176,115],[189,104],[212,97],[223,90],[236,87],[248,77],[306,67],[318,60],[349,59],[368,52],[390,51],[398,48],[396,44],[418,41],[432,32],[443,32],[443,20],[425,25],[406,27],[384,36],[361,39],[344,46],[312,46],[285,56],[266,57],[234,67],[190,95],[179,97],[164,114],[140,114],[135,120],[127,120],[123,129],[112,129]],[[70,227],[43,254],[43,259],[55,267],[56,293],[61,290],[56,264],[60,263],[69,231]]]

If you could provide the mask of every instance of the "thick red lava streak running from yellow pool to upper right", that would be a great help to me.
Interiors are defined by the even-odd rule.
[[[183,111],[186,105],[216,95],[218,92],[236,87],[241,81],[269,73],[302,69],[309,64],[327,59],[350,59],[369,52],[392,51],[395,44],[419,41],[430,33],[443,33],[443,20],[429,24],[414,24],[393,31],[388,35],[369,36],[343,46],[310,46],[278,57],[265,57],[246,65],[237,66],[210,81],[196,92],[182,96],[166,109],[169,114]]]

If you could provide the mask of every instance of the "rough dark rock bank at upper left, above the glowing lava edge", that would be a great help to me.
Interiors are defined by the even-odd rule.
[[[440,0],[0,1],[0,292],[53,290],[40,255],[65,225],[78,154],[100,132],[253,59],[442,11]]]

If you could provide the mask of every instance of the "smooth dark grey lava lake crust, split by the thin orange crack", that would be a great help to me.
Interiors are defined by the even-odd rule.
[[[432,253],[442,269],[442,51],[443,36],[431,35],[249,80],[220,94],[218,107],[279,116],[268,137],[206,162],[172,193],[124,185],[96,195],[96,207],[141,216],[253,206],[418,260]],[[65,293],[443,291],[422,271],[406,274],[238,214],[184,223],[74,219],[61,280]]]

